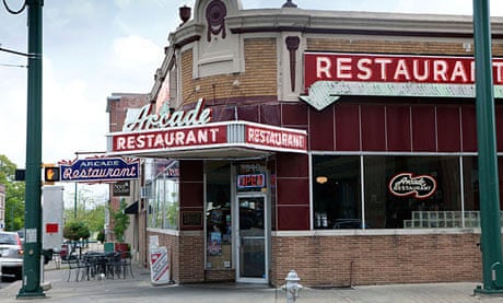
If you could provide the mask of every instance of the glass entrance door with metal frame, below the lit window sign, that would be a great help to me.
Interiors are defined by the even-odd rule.
[[[237,271],[239,282],[268,282],[266,196],[237,197]]]

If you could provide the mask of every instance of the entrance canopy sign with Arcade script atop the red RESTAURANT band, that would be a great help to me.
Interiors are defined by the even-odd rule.
[[[108,137],[109,154],[172,158],[252,156],[265,151],[305,153],[304,130],[248,121],[211,123],[211,108],[200,98],[190,110],[149,114],[152,105],[141,108],[121,132]]]

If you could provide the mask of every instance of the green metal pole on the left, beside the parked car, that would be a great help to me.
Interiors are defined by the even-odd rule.
[[[42,7],[26,0],[28,12],[28,83],[26,119],[26,193],[23,280],[17,298],[44,298],[42,267]]]

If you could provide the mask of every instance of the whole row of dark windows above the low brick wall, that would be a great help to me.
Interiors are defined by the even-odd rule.
[[[475,156],[313,155],[312,160],[315,229],[437,229],[478,224]]]

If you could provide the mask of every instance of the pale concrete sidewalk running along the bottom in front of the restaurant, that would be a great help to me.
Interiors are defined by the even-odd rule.
[[[169,302],[169,303],[279,303],[286,302],[284,291],[262,284],[209,283],[153,285],[150,272],[133,265],[134,277],[126,279],[105,279],[67,282],[68,269],[56,269],[50,263],[46,266],[44,280],[51,289],[46,298],[35,302]],[[302,281],[301,281],[302,282]],[[304,289],[297,302],[501,302],[503,298],[473,296],[478,283],[433,283],[433,284],[391,284],[354,287],[346,289]],[[0,289],[0,302],[22,302],[16,300],[21,281]]]

